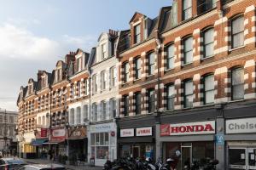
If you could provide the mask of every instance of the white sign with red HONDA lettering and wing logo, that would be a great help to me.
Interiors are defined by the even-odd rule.
[[[215,133],[215,122],[188,122],[160,126],[161,136],[212,134]]]

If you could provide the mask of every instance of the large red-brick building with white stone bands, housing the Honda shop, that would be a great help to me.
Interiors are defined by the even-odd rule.
[[[119,156],[166,159],[178,150],[179,168],[210,157],[223,169],[250,155],[256,131],[243,124],[255,119],[255,5],[177,0],[154,20],[134,14],[120,37],[131,42],[119,50]],[[206,125],[211,132],[195,129]],[[141,128],[152,132],[142,137]]]

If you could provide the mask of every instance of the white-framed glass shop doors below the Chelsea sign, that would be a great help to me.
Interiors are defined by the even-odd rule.
[[[230,148],[230,170],[256,169],[256,148]]]

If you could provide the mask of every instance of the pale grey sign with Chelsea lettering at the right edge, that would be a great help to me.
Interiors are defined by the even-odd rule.
[[[226,133],[256,133],[256,117],[227,120]]]

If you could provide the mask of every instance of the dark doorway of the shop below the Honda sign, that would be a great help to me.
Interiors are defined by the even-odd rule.
[[[185,166],[190,167],[191,166],[191,158],[192,158],[192,147],[191,146],[182,146],[181,147],[181,169],[183,169]]]

